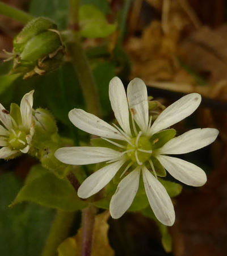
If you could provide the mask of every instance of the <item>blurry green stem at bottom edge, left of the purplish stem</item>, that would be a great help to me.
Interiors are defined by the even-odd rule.
[[[73,219],[74,212],[57,211],[42,256],[57,255],[57,247],[68,236]]]

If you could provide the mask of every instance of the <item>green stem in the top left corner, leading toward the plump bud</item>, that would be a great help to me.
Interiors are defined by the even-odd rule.
[[[33,16],[30,14],[25,13],[19,9],[6,5],[5,3],[0,2],[0,14],[8,16],[12,19],[19,20],[22,23],[27,23]]]

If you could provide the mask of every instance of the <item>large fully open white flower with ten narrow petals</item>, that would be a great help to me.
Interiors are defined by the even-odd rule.
[[[121,80],[114,77],[110,81],[109,94],[113,112],[122,130],[82,109],[71,110],[69,119],[79,129],[115,144],[119,147],[119,151],[105,147],[65,147],[56,151],[56,158],[63,163],[77,165],[106,161],[110,163],[83,181],[78,189],[78,196],[83,199],[105,187],[123,165],[125,165],[123,174],[132,170],[120,181],[112,196],[110,213],[113,218],[121,217],[132,204],[142,172],[150,207],[159,221],[171,226],[175,221],[173,204],[166,189],[148,170],[148,163],[154,175],[151,157],[158,159],[175,179],[188,185],[201,186],[207,181],[205,172],[201,168],[182,159],[166,156],[166,154],[184,154],[205,147],[215,141],[218,130],[194,129],[171,139],[158,150],[154,150],[154,142],[150,141],[152,135],[192,114],[201,102],[200,94],[191,93],[180,98],[166,108],[153,125],[151,125],[152,119],[149,120],[146,85],[141,79],[134,79],[129,83],[126,96]],[[129,113],[132,117],[131,122]],[[124,143],[118,143],[115,140]]]

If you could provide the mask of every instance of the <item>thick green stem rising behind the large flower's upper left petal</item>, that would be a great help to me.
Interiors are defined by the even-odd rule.
[[[87,105],[87,111],[99,116],[99,97],[96,90],[93,73],[89,67],[89,63],[81,42],[73,31],[72,38],[70,42],[68,42],[68,50],[70,56],[72,56],[72,63],[74,65],[75,72],[77,73],[79,83],[82,87],[83,96]]]

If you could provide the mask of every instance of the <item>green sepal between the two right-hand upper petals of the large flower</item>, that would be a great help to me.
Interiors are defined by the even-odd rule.
[[[152,138],[150,138],[150,142],[152,143],[152,149],[155,150],[157,148],[162,147],[165,145],[170,139],[173,139],[176,135],[175,129],[167,129],[163,131],[159,131],[158,133],[155,133],[152,135]]]

